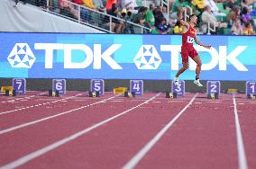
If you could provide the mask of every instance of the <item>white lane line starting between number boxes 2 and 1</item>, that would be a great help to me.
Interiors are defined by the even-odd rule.
[[[234,120],[235,120],[235,129],[236,129],[238,165],[239,165],[239,169],[247,169],[248,166],[246,162],[245,150],[244,150],[243,141],[242,141],[242,131],[239,123],[234,95],[233,95],[233,113],[234,113]]]

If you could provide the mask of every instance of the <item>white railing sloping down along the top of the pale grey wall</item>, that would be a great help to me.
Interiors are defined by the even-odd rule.
[[[30,0],[28,0],[28,2],[29,1]],[[63,6],[61,6],[62,4],[60,4],[60,5],[58,4],[58,8],[55,10],[52,9],[54,6],[50,6],[50,4],[51,4],[50,0],[46,0],[46,3],[44,4],[46,6],[46,9],[44,9],[44,11],[46,11],[48,13],[54,13],[54,14],[57,14],[59,16],[65,17],[65,18],[69,18],[69,20],[72,20],[75,22],[89,25],[89,26],[94,27],[101,31],[114,33],[114,31],[113,31],[114,20],[115,20],[115,22],[123,22],[123,24],[125,26],[128,25],[127,27],[129,29],[131,29],[131,31],[137,30],[134,33],[143,33],[144,31],[149,31],[149,32],[151,31],[151,29],[146,28],[140,24],[136,24],[136,23],[130,22],[130,21],[125,21],[125,20],[115,17],[113,15],[99,12],[94,9],[90,9],[84,5],[72,3],[69,0],[62,0]],[[64,4],[65,4],[65,6],[64,6]],[[65,8],[67,8],[67,13],[72,14],[72,17],[64,15],[65,13],[63,13],[63,14],[60,13]],[[94,15],[94,16],[96,16],[96,18],[88,19],[87,21],[85,21],[85,18],[83,18],[83,16],[81,16],[81,13],[86,14],[87,17],[89,17],[89,16],[92,17],[92,15]],[[99,19],[99,20],[96,20],[96,19]],[[124,29],[127,29],[127,28],[124,28]]]

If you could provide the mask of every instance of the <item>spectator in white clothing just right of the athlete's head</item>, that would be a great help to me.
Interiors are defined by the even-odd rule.
[[[211,27],[216,26],[216,28],[227,28],[227,23],[226,22],[218,22],[215,14],[212,13],[211,8],[209,5],[205,6],[205,11],[202,13],[202,22],[205,25],[208,25],[208,22],[210,22]],[[203,32],[206,33],[206,28],[207,26],[203,27]]]

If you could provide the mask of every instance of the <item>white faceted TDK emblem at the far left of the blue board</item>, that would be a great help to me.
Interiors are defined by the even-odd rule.
[[[35,57],[27,43],[17,43],[8,56],[12,67],[31,68]]]

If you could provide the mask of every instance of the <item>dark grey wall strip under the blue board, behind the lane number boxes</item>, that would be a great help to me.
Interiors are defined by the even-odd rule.
[[[52,79],[26,79],[27,90],[29,91],[48,91],[51,89]],[[167,80],[144,80],[144,92],[166,92],[171,91],[171,81]],[[245,93],[244,81],[221,81],[221,92],[224,93],[228,88],[238,89],[240,93]],[[186,92],[206,93],[206,81],[202,81],[204,87],[198,87],[193,81],[187,80]],[[12,85],[12,79],[0,78],[0,86]],[[66,79],[66,89],[68,91],[88,91],[90,90],[90,79]],[[130,80],[105,80],[105,91],[113,91],[114,87],[128,87]]]

